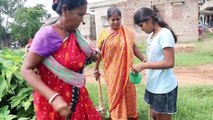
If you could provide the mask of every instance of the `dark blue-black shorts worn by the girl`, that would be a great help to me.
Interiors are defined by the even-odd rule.
[[[151,106],[153,112],[160,114],[175,114],[177,111],[178,87],[165,94],[154,94],[146,90],[144,100]]]

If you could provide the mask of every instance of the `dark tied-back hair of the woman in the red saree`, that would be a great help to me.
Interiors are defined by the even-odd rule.
[[[85,4],[87,4],[87,0],[53,0],[52,9],[61,15],[63,5],[67,5],[68,10],[72,10]]]

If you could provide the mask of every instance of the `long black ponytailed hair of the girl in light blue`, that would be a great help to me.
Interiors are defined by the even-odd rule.
[[[177,42],[177,36],[175,35],[171,27],[166,22],[164,22],[163,19],[161,19],[161,17],[157,16],[155,12],[150,8],[142,7],[139,10],[137,10],[134,14],[134,23],[138,25],[141,22],[147,21],[148,18],[151,18],[153,20],[153,23],[158,23],[160,27],[168,28],[172,32],[175,43]]]

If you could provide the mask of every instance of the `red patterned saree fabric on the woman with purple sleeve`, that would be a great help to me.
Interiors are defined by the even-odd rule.
[[[61,65],[78,72],[83,68],[86,55],[80,50],[76,43],[74,34],[67,39],[63,45],[52,55]],[[70,104],[72,99],[72,86],[60,80],[44,65],[39,68],[42,81],[55,92],[60,93],[63,99]],[[43,96],[34,92],[34,108],[37,120],[65,120],[61,117]],[[75,111],[72,113],[71,120],[101,120],[101,116],[96,111],[89,98],[87,89],[80,88],[78,102]]]

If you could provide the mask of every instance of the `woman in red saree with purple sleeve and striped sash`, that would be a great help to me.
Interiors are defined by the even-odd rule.
[[[76,30],[86,13],[87,1],[54,2],[53,9],[60,18],[36,33],[22,65],[24,79],[35,90],[36,119],[101,120],[82,74],[87,58],[94,58],[95,51]]]

